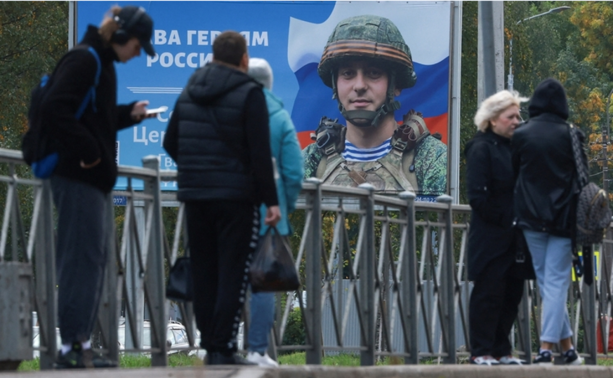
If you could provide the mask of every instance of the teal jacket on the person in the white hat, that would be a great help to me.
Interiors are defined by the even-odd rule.
[[[296,136],[296,129],[287,110],[283,108],[283,102],[268,89],[264,88],[268,116],[270,117],[270,150],[276,160],[278,178],[276,179],[276,195],[281,209],[281,221],[276,229],[281,235],[289,235],[291,226],[287,215],[295,210],[296,199],[302,190],[302,178],[304,168],[302,152]],[[260,208],[262,228],[260,235],[264,235],[268,229],[264,225],[266,206]]]

